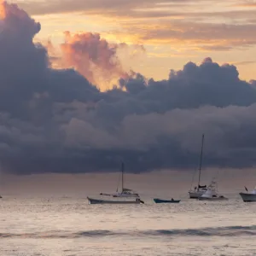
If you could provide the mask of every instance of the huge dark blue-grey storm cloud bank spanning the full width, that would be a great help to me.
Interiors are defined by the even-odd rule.
[[[101,92],[72,69],[48,65],[33,44],[40,25],[2,4],[0,155],[15,173],[195,168],[201,134],[205,166],[253,166],[256,82],[210,58],[166,80],[133,73]]]

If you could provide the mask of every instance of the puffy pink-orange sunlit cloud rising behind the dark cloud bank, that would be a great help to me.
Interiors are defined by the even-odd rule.
[[[131,64],[145,57],[143,45],[109,43],[99,33],[64,32],[64,43],[55,47],[50,40],[45,48],[49,65],[55,68],[73,68],[100,90],[117,86],[118,80],[128,79],[134,72]]]

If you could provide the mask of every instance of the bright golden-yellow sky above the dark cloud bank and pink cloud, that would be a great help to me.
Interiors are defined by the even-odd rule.
[[[256,79],[255,1],[23,0],[20,7],[42,24],[38,40],[98,32],[108,42],[143,45],[144,55],[123,62],[148,78],[166,79],[170,69],[210,55],[236,64],[241,79]]]

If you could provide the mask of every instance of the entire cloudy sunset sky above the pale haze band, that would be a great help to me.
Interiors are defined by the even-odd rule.
[[[2,172],[252,168],[254,6],[1,2]]]

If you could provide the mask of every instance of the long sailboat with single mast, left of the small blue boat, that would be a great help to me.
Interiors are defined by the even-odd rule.
[[[114,193],[114,194],[106,194],[106,193],[101,193],[100,195],[108,195],[112,196],[114,200],[105,200],[105,199],[95,199],[91,197],[87,197],[88,201],[90,204],[141,204],[144,203],[141,199],[140,196],[133,192],[131,189],[125,189],[124,188],[124,171],[125,171],[125,165],[122,162],[121,164],[121,191]]]

